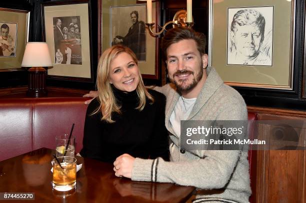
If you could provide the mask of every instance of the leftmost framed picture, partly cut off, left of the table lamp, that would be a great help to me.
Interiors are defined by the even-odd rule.
[[[29,17],[27,10],[0,8],[0,71],[23,70]]]

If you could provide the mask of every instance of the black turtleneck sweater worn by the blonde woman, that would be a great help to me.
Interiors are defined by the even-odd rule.
[[[99,107],[95,98],[88,105],[80,155],[103,162],[114,160],[126,153],[133,157],[162,157],[168,160],[168,134],[164,125],[165,96],[148,89],[154,103],[146,100],[142,111],[138,106],[137,92],[122,92],[113,87],[121,114],[112,113],[114,123],[101,121],[101,112],[90,115]]]

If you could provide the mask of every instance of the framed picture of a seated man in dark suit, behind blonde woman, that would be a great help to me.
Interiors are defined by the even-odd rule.
[[[103,10],[99,18],[99,56],[105,49],[123,44],[135,53],[142,77],[158,79],[158,38],[146,28],[146,4],[136,0],[99,3]],[[153,22],[158,22],[157,3],[152,3]]]

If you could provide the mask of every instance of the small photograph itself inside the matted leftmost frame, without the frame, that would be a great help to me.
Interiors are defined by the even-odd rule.
[[[0,31],[0,57],[15,57],[17,23],[0,22]]]

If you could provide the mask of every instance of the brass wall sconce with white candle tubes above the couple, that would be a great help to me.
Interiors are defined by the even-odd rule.
[[[141,0],[140,0],[141,1]],[[152,27],[155,23],[152,22],[152,0],[145,0],[146,1],[146,25],[148,26],[150,32],[153,35],[159,35],[163,32],[165,27],[168,24],[173,24],[173,26],[182,26],[182,27],[192,27],[193,26],[193,18],[192,18],[192,0],[187,0],[187,10],[179,10],[175,13],[173,16],[172,21],[166,22],[162,27],[157,25],[158,27],[161,27],[162,29],[159,32],[154,32],[152,30]]]

